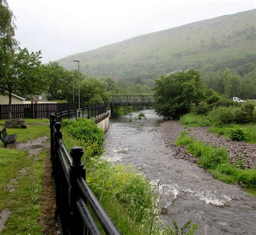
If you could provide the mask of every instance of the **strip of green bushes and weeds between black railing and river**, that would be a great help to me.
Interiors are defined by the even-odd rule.
[[[122,234],[193,234],[196,225],[190,221],[180,229],[176,223],[173,227],[156,223],[160,195],[143,175],[100,160],[104,134],[93,120],[62,123],[63,142],[69,150],[76,145],[84,148],[86,181]]]

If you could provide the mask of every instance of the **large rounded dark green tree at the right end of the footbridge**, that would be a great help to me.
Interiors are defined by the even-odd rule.
[[[206,87],[198,70],[188,70],[160,77],[153,91],[157,114],[175,119],[189,112],[192,103],[204,98]]]

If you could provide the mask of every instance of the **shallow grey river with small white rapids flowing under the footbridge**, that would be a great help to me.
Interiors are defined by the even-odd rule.
[[[158,131],[163,119],[144,110],[146,119],[134,120],[139,112],[111,120],[105,136],[103,158],[113,164],[133,165],[139,173],[160,181],[160,214],[165,225],[197,223],[196,234],[256,234],[255,198],[237,185],[214,179],[197,164],[172,158]],[[166,212],[167,211],[167,212]]]

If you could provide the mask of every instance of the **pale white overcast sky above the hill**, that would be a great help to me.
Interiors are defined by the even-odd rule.
[[[255,1],[8,0],[21,47],[43,63],[140,34],[255,8]]]

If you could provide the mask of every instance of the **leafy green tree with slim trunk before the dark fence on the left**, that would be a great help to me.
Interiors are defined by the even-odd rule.
[[[6,75],[0,78],[2,91],[9,92],[9,119],[11,119],[11,93],[26,96],[40,94],[45,89],[41,72],[41,51],[29,53],[28,49],[18,48],[10,60]]]

